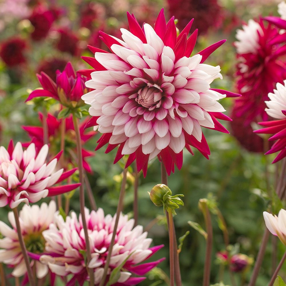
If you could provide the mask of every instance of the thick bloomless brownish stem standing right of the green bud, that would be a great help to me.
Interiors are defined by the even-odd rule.
[[[204,278],[203,278],[203,286],[209,286],[210,285],[210,265],[211,265],[211,256],[212,256],[212,221],[210,217],[210,211],[208,210],[208,207],[206,203],[202,205],[202,213],[204,215],[204,221],[206,224],[206,232],[207,232],[207,238],[206,238],[206,255],[204,260]]]

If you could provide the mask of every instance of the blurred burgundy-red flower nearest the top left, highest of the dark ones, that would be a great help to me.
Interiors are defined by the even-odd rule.
[[[55,15],[53,11],[39,5],[33,10],[29,20],[34,27],[31,37],[33,40],[39,41],[47,37],[47,34],[55,21]]]

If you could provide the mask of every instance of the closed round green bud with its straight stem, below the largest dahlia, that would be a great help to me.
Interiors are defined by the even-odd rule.
[[[169,245],[170,245],[170,286],[174,286],[175,268],[174,268],[174,225],[173,215],[176,215],[175,209],[183,206],[184,203],[179,198],[182,194],[172,196],[172,191],[164,184],[157,184],[149,192],[150,199],[155,206],[163,206],[164,213],[167,212],[169,221]]]

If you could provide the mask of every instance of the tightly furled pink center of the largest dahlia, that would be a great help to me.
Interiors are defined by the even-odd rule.
[[[144,88],[138,90],[138,96],[135,99],[138,104],[153,110],[161,106],[162,89],[157,84],[148,83]]]

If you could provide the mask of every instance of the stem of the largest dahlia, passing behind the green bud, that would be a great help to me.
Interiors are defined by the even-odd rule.
[[[167,172],[166,172],[166,168],[163,164],[163,162],[161,162],[161,182],[164,185],[168,185],[168,176],[167,176]],[[167,225],[169,228],[169,217],[168,215],[166,215],[167,218]],[[172,223],[174,226],[174,219],[172,216]],[[180,260],[179,260],[179,254],[178,254],[178,245],[177,245],[177,237],[176,237],[176,231],[175,231],[175,227],[173,227],[173,235],[174,235],[174,264],[175,264],[175,281],[176,281],[176,285],[177,286],[182,286],[182,278],[181,278],[181,270],[180,270]]]

